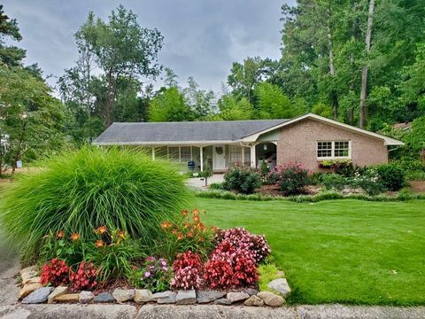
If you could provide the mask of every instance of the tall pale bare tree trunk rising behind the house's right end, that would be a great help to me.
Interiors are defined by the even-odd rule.
[[[369,1],[369,12],[367,17],[367,30],[366,30],[366,58],[369,56],[370,51],[370,41],[372,38],[372,24],[374,19],[375,12],[375,0]],[[367,63],[361,68],[361,88],[360,88],[360,109],[359,109],[359,127],[365,128],[367,121],[367,105],[366,105],[366,96],[367,96]]]

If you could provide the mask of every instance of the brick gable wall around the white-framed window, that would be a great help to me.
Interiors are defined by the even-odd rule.
[[[311,119],[281,128],[277,162],[301,162],[306,168],[318,171],[317,141],[335,140],[352,141],[352,162],[357,166],[388,162],[388,150],[383,140]]]

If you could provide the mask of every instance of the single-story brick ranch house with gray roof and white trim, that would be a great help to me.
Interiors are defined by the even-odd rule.
[[[389,147],[403,143],[308,113],[290,120],[115,122],[93,144],[138,145],[149,149],[152,159],[193,161],[201,171],[209,160],[220,172],[236,162],[258,167],[264,159],[270,167],[300,162],[312,171],[327,159],[357,166],[386,163]]]

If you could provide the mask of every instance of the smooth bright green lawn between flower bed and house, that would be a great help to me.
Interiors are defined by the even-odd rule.
[[[425,201],[197,198],[205,222],[266,234],[292,303],[425,304]]]

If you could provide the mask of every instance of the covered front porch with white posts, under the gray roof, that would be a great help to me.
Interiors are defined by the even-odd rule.
[[[153,145],[150,148],[152,159],[162,157],[188,167],[190,162],[195,171],[201,172],[208,164],[216,173],[224,172],[235,163],[259,167],[261,160],[266,160],[270,168],[276,165],[276,142]]]

